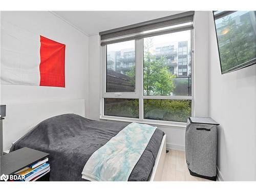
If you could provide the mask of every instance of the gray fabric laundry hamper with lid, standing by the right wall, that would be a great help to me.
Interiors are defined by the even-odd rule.
[[[187,119],[185,153],[190,175],[216,181],[217,125],[211,118]]]

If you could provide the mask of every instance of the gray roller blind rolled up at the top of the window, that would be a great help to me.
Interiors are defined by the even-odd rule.
[[[101,45],[193,29],[194,11],[149,20],[99,33]]]

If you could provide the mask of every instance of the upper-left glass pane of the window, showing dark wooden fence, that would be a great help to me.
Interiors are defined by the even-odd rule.
[[[106,92],[135,92],[135,40],[106,46]]]

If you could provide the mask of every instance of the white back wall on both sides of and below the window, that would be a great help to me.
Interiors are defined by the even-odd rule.
[[[207,11],[195,12],[195,115],[208,116],[208,16]],[[100,115],[100,37],[89,37],[89,109],[91,119]],[[167,148],[184,151],[185,127],[159,127],[166,133]]]

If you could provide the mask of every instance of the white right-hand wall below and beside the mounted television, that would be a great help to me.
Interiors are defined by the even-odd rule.
[[[218,168],[224,181],[255,181],[256,65],[221,75],[209,17],[209,115],[218,126]]]

